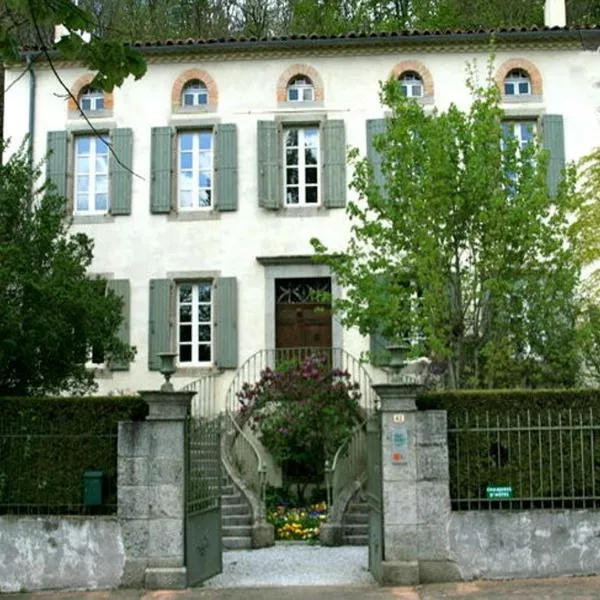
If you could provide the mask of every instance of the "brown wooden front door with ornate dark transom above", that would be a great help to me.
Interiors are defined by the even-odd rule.
[[[331,292],[331,279],[275,280],[276,348],[331,348],[331,305],[316,302],[316,292]]]

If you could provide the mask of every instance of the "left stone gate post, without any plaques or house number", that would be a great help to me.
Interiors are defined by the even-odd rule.
[[[122,584],[187,587],[186,419],[194,392],[140,392],[146,421],[119,423],[118,515],[125,545]]]

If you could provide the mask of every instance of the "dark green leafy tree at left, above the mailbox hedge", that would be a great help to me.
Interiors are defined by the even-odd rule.
[[[89,392],[91,349],[133,356],[121,298],[87,275],[92,240],[69,233],[65,199],[39,176],[23,148],[0,166],[0,396]]]

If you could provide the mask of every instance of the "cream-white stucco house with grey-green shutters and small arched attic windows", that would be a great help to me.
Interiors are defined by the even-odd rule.
[[[550,25],[564,25],[558,6]],[[53,151],[48,174],[74,229],[95,240],[93,271],[126,299],[122,334],[137,355],[99,369],[99,392],[156,387],[166,350],[179,355],[176,387],[218,371],[223,389],[263,348],[368,350],[308,302],[307,289],[331,286],[309,240],[345,246],[345,150],[369,152],[385,116],[380,82],[399,78],[426,106],[466,107],[466,65],[476,59],[485,77],[489,42],[411,32],[148,43],[146,76],[113,94],[57,65],[122,164],[41,57],[19,81],[22,67],[9,68],[6,137],[30,132],[36,160]],[[565,158],[600,140],[600,29],[497,31],[495,43],[507,120],[519,136],[544,136],[555,181]]]

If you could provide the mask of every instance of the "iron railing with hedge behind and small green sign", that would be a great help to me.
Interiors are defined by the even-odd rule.
[[[592,408],[448,415],[453,510],[600,508]]]

